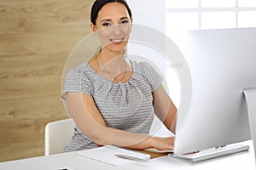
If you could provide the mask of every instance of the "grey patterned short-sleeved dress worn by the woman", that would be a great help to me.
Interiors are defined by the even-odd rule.
[[[154,119],[152,93],[162,77],[151,65],[131,61],[133,74],[128,82],[113,83],[103,78],[88,63],[67,73],[62,98],[67,92],[90,94],[108,127],[131,133],[148,133]],[[91,129],[93,130],[93,129]],[[64,151],[96,148],[79,127]]]

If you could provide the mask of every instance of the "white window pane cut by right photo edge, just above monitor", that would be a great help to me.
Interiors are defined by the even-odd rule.
[[[256,27],[256,11],[238,13],[238,27]]]

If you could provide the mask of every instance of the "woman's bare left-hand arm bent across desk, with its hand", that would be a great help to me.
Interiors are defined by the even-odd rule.
[[[172,138],[152,137],[148,134],[128,133],[107,127],[93,98],[89,94],[67,93],[68,112],[82,132],[98,145],[118,145],[121,147],[143,150],[156,148],[172,150]]]

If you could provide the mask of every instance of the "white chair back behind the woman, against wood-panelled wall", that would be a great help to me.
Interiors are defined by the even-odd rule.
[[[44,155],[61,153],[74,132],[73,119],[49,122],[44,131]]]

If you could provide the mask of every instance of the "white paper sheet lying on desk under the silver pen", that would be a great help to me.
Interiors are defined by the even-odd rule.
[[[137,158],[142,158],[142,159],[149,159],[150,155],[140,153],[137,151],[132,151],[132,150],[125,150],[116,146],[112,145],[106,145],[102,146],[96,149],[90,149],[90,150],[80,150],[78,151],[79,156],[85,156],[91,159],[94,159],[96,161],[102,161],[105,163],[108,163],[113,166],[121,166],[125,164],[129,164],[132,162],[132,160],[127,160],[123,158],[119,158],[115,156],[116,154],[122,154],[125,156],[135,156]]]

